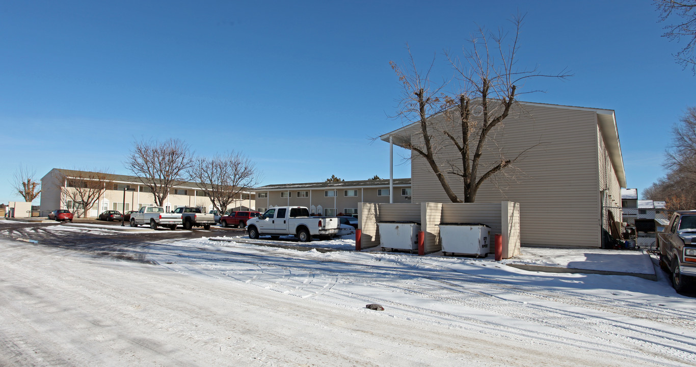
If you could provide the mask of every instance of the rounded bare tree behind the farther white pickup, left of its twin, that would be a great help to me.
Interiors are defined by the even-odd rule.
[[[155,196],[155,205],[164,206],[172,187],[185,182],[187,169],[193,164],[189,145],[179,139],[136,141],[124,162]]]

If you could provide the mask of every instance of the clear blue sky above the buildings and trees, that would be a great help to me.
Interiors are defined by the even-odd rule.
[[[651,1],[3,1],[0,202],[19,200],[19,164],[106,169],[136,139],[187,141],[199,155],[241,151],[262,184],[388,178],[400,84],[389,61],[459,52],[476,24],[526,13],[524,100],[613,109],[628,187],[664,174],[670,128],[695,106],[696,77],[661,37]],[[404,155],[404,151],[397,151]],[[398,163],[398,162],[397,162]],[[410,177],[409,164],[395,178]]]

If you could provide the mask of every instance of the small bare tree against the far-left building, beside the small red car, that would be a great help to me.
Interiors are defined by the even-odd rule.
[[[113,176],[104,171],[70,171],[70,175],[56,182],[61,190],[61,201],[76,217],[87,217],[106,189],[113,186]]]

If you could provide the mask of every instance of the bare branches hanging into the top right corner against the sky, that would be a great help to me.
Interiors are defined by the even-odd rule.
[[[684,69],[691,68],[691,72],[696,75],[696,0],[655,0],[655,4],[660,12],[660,22],[667,19],[677,21],[665,26],[663,37],[670,41],[686,42],[686,45],[674,54],[674,58]]]

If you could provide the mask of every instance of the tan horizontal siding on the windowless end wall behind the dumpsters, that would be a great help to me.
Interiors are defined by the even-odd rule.
[[[511,114],[505,130],[494,132],[505,157],[514,158],[538,145],[516,163],[515,170],[507,170],[514,177],[498,175],[484,182],[476,202],[520,203],[522,244],[600,247],[597,131],[594,111],[525,106],[525,113]],[[455,155],[453,146],[443,147],[438,162]],[[425,159],[412,156],[413,202],[449,202]],[[498,158],[496,150],[484,152],[479,175],[491,157]],[[463,197],[463,186],[455,177],[448,175],[454,191]]]

